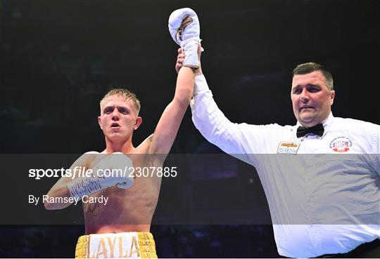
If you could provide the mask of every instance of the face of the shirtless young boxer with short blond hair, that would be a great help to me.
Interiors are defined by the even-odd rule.
[[[104,100],[98,122],[107,138],[127,140],[139,128],[142,119],[132,100],[112,95]]]

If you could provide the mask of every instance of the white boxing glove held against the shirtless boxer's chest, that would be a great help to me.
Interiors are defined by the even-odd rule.
[[[82,199],[84,195],[94,194],[108,187],[132,187],[133,178],[129,177],[129,168],[132,166],[132,160],[125,154],[109,154],[92,168],[93,177],[76,178],[68,183],[70,195]]]

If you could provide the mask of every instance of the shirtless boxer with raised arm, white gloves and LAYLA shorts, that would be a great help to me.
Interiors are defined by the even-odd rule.
[[[167,105],[152,135],[139,146],[132,136],[141,125],[140,102],[134,93],[113,89],[100,102],[99,126],[106,147],[87,152],[72,164],[92,169],[90,177],[61,178],[49,197],[108,197],[108,203],[84,204],[85,235],[80,237],[76,258],[156,258],[155,242],[149,232],[158,202],[162,168],[175,140],[194,88],[194,69],[200,55],[199,23],[194,11],[175,11],[169,27],[187,58],[177,77],[175,96]],[[148,177],[137,176],[134,168],[148,168]],[[152,169],[153,168],[153,169]],[[114,175],[103,174],[118,172]],[[45,202],[46,209],[61,209],[71,203]]]

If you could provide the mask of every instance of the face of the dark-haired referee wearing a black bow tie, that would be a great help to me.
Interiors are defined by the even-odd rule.
[[[322,123],[331,112],[335,91],[327,86],[322,72],[296,74],[291,86],[291,102],[297,120],[304,127]]]

